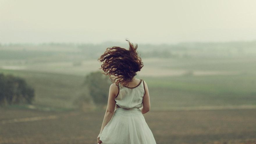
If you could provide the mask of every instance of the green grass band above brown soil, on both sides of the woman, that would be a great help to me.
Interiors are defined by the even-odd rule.
[[[83,77],[25,70],[0,70],[26,79],[35,88],[39,107],[70,108],[83,89]],[[152,110],[196,106],[256,105],[255,75],[142,77],[148,85]]]

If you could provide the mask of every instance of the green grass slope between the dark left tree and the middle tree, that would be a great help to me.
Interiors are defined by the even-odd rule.
[[[0,72],[24,78],[35,89],[37,106],[75,108],[73,102],[83,88],[83,77],[76,75],[1,69]]]

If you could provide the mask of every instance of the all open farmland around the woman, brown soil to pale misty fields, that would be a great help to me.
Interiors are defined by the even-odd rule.
[[[43,48],[0,47],[0,73],[35,89],[32,105],[0,107],[0,143],[96,143],[105,109],[91,103],[81,109],[79,102],[90,99],[84,78],[100,67],[88,57],[97,50],[83,57],[78,48]],[[173,54],[142,57],[136,75],[149,88],[151,111],[144,116],[157,143],[256,143],[255,49]]]

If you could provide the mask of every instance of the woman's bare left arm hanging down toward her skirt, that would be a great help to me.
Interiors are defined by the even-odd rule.
[[[113,112],[115,110],[115,96],[118,91],[118,87],[115,85],[115,83],[112,83],[110,88],[109,88],[109,98],[108,98],[108,106],[106,109],[106,113],[104,115],[104,119],[102,122],[102,126],[100,129],[100,133],[102,133],[102,130],[104,129],[104,127],[107,125],[107,123],[111,120]]]

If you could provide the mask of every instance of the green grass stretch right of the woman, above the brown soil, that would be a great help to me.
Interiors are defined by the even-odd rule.
[[[255,75],[144,77],[152,109],[256,105]]]

